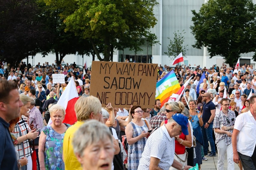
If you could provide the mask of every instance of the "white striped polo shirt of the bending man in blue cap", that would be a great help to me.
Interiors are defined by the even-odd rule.
[[[150,158],[160,159],[158,167],[169,170],[172,166],[175,153],[174,138],[171,138],[165,125],[152,133],[145,145],[138,170],[149,170]]]

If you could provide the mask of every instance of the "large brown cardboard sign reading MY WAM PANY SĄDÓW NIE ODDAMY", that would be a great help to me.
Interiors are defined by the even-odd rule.
[[[157,64],[93,61],[90,95],[99,98],[102,107],[155,104]]]

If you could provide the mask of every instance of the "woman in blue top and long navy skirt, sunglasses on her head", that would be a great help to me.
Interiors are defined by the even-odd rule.
[[[203,135],[201,131],[201,126],[203,126],[202,112],[197,112],[195,110],[196,101],[189,101],[189,120],[191,122],[193,128],[193,135],[196,137],[196,158],[194,158],[194,166],[196,163],[199,165],[199,169],[202,164],[202,156],[201,156],[201,145],[203,145]]]

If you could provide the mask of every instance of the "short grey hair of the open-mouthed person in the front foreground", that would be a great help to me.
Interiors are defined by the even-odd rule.
[[[109,128],[97,120],[89,119],[74,134],[72,141],[74,152],[82,157],[85,148],[106,138],[109,138],[113,145]]]

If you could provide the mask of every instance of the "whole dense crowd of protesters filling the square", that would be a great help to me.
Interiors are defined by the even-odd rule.
[[[158,69],[158,81],[171,71],[166,65]],[[216,153],[218,169],[224,169],[225,153],[228,169],[234,163],[255,169],[252,66],[176,67],[181,86],[194,77],[179,102],[156,99],[154,108],[114,108],[111,103],[102,108],[90,96],[91,72],[86,72],[75,63],[47,62],[35,68],[21,62],[16,69],[9,65],[0,70],[0,169],[188,170],[196,165],[201,169]],[[53,84],[52,74],[59,73],[65,84]],[[56,104],[71,78],[79,95],[74,125],[63,123],[66,110]],[[47,125],[49,119],[52,124]]]

